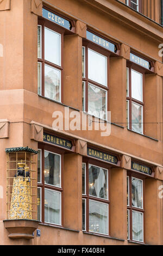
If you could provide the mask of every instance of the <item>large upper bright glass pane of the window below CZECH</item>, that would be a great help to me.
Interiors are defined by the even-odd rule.
[[[45,28],[45,59],[61,65],[61,35]]]

